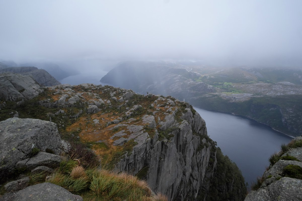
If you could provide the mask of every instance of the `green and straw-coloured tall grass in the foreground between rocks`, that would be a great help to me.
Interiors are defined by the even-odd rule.
[[[112,173],[96,168],[85,169],[77,161],[62,161],[57,171],[46,179],[62,186],[84,200],[152,201],[146,181],[127,173]]]

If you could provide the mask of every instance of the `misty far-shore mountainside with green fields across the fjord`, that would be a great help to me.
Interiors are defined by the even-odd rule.
[[[302,132],[302,71],[213,68],[203,62],[121,62],[101,82],[171,95],[204,109],[243,115],[281,132]]]

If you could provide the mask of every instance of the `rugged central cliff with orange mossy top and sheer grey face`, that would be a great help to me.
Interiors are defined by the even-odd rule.
[[[8,117],[18,111],[20,118],[53,121],[63,139],[93,149],[103,168],[135,174],[169,200],[210,199],[217,171],[215,142],[207,136],[204,120],[186,102],[111,86],[57,85],[46,87],[21,107],[2,111]],[[228,199],[242,200],[246,187],[240,172],[232,181],[235,177],[241,178],[241,190],[236,182],[227,182],[224,185],[231,188],[221,193],[237,192],[239,199]]]

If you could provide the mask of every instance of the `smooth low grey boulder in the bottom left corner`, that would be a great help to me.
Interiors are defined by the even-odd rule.
[[[16,193],[6,193],[0,201],[83,201],[79,195],[70,193],[63,187],[51,183],[29,186]]]

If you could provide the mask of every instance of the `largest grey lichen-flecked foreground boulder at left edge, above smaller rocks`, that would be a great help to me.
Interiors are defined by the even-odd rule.
[[[32,156],[32,150],[59,154],[62,140],[57,125],[39,119],[9,118],[0,122],[0,178],[14,173],[17,162]]]

